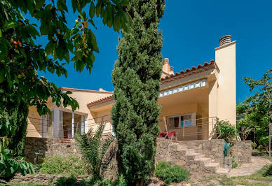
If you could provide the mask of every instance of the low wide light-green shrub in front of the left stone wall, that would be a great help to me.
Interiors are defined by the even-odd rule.
[[[72,155],[68,157],[46,157],[39,171],[66,176],[78,176],[87,173],[86,164],[79,157]]]

